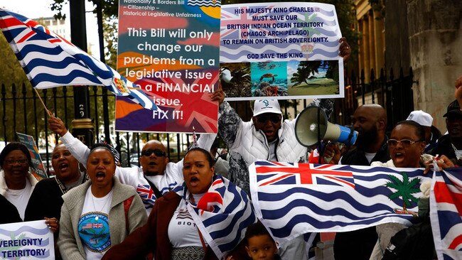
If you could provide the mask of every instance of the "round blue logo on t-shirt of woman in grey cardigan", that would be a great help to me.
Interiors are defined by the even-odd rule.
[[[87,212],[80,217],[77,230],[87,249],[101,253],[111,247],[109,218],[102,212]]]

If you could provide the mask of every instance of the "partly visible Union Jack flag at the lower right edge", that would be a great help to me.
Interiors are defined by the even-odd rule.
[[[438,259],[462,259],[462,169],[434,173],[430,220]]]

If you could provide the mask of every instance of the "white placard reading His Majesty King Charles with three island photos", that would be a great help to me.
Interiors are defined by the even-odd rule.
[[[226,99],[344,97],[341,37],[331,4],[222,6],[220,72]]]

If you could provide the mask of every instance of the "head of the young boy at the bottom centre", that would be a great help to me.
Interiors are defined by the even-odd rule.
[[[253,260],[274,259],[274,254],[277,251],[276,243],[274,243],[273,238],[269,235],[262,222],[257,222],[247,227],[245,239],[247,241],[245,249],[250,258]]]

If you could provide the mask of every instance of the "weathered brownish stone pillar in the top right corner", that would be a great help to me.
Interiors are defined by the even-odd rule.
[[[414,109],[429,112],[443,133],[443,114],[455,99],[454,81],[462,75],[461,21],[460,0],[407,0],[410,65],[417,81]]]

